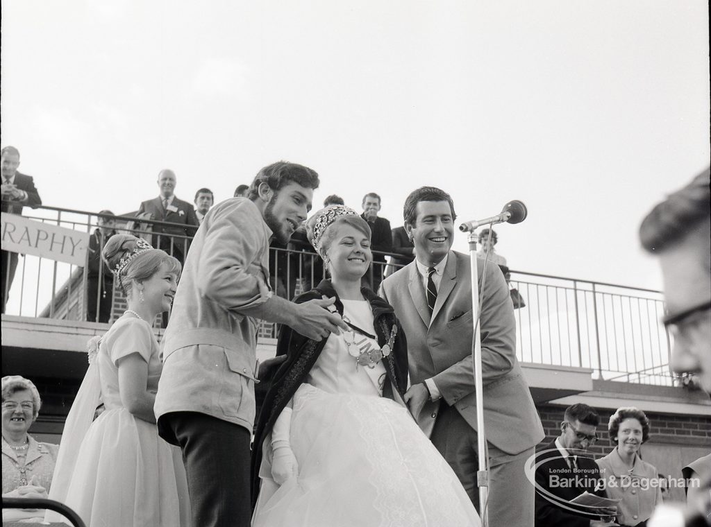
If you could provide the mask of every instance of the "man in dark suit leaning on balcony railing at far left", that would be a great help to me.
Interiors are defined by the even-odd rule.
[[[20,152],[14,146],[6,146],[0,153],[0,170],[2,173],[2,212],[22,214],[25,205],[36,208],[42,205],[40,195],[35,188],[31,175],[17,171],[20,166]],[[2,313],[5,313],[10,286],[17,269],[17,253],[2,251]]]

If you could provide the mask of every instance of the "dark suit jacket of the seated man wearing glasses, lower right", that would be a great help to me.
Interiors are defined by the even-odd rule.
[[[599,514],[587,512],[589,509],[578,509],[574,505],[565,503],[584,491],[606,496],[600,470],[592,455],[578,456],[577,470],[573,470],[568,467],[553,441],[538,450],[536,462],[538,464],[535,469],[536,527],[589,527],[590,520],[600,519]],[[570,485],[565,486],[568,482]]]

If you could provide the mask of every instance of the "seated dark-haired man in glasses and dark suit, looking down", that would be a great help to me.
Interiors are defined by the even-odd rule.
[[[570,501],[587,491],[605,496],[604,480],[587,449],[597,441],[600,417],[587,404],[565,409],[560,436],[536,454],[535,526],[602,527],[614,526],[613,509],[592,509]],[[601,519],[607,516],[609,521]]]

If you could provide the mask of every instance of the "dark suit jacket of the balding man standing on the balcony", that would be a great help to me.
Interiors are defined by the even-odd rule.
[[[173,197],[172,206],[177,210],[164,210],[161,197],[154,197],[152,200],[141,203],[137,216],[149,212],[151,219],[178,224],[174,227],[172,225],[154,225],[153,244],[157,249],[163,249],[183,262],[190,246],[188,239],[195,236],[197,231],[197,229],[191,229],[188,226],[200,227],[200,222],[195,215],[192,203],[179,200],[176,196]]]

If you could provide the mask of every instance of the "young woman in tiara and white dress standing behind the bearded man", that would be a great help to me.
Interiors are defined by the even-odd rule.
[[[49,497],[91,526],[186,526],[180,451],[159,438],[153,412],[161,374],[153,322],[171,306],[181,264],[126,234],[109,239],[102,256],[127,295],[128,309],[98,350],[90,350],[91,364],[60,444],[58,484]],[[99,396],[105,411],[92,422]],[[55,513],[46,518],[58,521]]]

